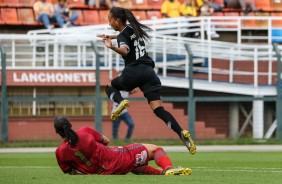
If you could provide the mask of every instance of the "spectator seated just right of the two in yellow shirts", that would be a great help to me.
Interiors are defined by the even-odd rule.
[[[214,8],[209,6],[209,0],[203,0],[203,5],[200,7],[201,16],[211,16]],[[207,36],[211,38],[218,38],[220,35],[215,31],[215,26],[212,24],[205,24]]]

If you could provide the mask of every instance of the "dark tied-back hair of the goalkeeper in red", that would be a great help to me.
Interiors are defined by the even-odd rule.
[[[68,118],[64,116],[56,117],[54,120],[54,128],[62,138],[68,141],[71,147],[76,146],[79,141],[78,135],[71,129],[71,123]]]

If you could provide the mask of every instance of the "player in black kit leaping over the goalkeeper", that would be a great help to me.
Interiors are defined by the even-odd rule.
[[[111,119],[115,120],[124,108],[129,107],[129,101],[123,99],[119,91],[132,91],[139,87],[155,115],[178,134],[191,154],[195,154],[196,145],[190,132],[183,130],[175,118],[162,106],[159,92],[162,87],[161,81],[153,69],[154,61],[145,50],[145,40],[150,38],[146,31],[152,31],[152,29],[141,24],[130,10],[121,7],[113,7],[109,12],[108,20],[109,25],[115,31],[119,31],[119,34],[97,36],[102,38],[106,47],[120,54],[125,62],[121,75],[113,79],[106,88],[108,97],[119,104],[112,113]],[[126,24],[127,21],[129,24]],[[112,39],[117,39],[117,47],[112,44]]]

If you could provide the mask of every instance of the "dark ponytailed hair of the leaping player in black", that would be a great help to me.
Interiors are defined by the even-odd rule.
[[[144,24],[141,24],[133,15],[133,13],[125,8],[121,8],[121,7],[113,7],[110,10],[110,13],[112,15],[112,17],[116,18],[116,19],[120,19],[120,21],[125,25],[126,21],[128,21],[136,35],[136,38],[143,38],[145,40],[149,39],[150,36],[148,35],[148,33],[146,33],[146,31],[152,31],[151,28],[149,28],[148,26],[145,26]]]

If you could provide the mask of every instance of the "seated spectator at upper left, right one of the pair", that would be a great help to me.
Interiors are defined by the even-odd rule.
[[[78,18],[78,14],[73,13],[71,15],[70,9],[66,3],[67,0],[58,0],[58,3],[54,5],[54,11],[64,19],[66,26],[72,26],[74,25],[74,21]]]

